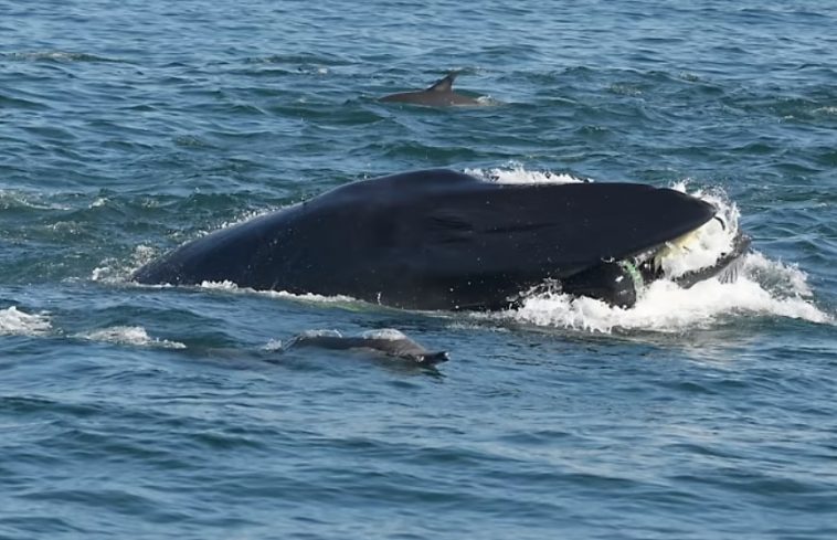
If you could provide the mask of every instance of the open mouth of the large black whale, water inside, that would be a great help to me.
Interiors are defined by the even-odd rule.
[[[639,255],[602,264],[564,278],[561,289],[619,307],[632,307],[644,287],[669,279],[684,288],[716,278],[734,282],[750,248],[750,237],[716,218]]]

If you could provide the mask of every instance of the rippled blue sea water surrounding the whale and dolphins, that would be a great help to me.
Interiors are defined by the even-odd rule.
[[[837,538],[837,6],[0,0],[0,538]],[[449,70],[487,106],[377,102]],[[499,314],[141,287],[446,167],[709,198],[740,279]],[[292,336],[394,328],[416,370]]]

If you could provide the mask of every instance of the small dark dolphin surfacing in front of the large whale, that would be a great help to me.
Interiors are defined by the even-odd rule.
[[[336,330],[309,330],[294,336],[282,346],[283,351],[300,347],[329,350],[368,350],[420,367],[432,367],[448,360],[445,351],[430,351],[395,329],[370,330],[360,336],[343,336]]]

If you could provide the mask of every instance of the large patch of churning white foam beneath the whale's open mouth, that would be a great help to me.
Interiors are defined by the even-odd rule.
[[[760,277],[759,274],[762,274]],[[763,283],[767,276],[773,290]],[[755,315],[833,324],[810,298],[805,275],[798,268],[771,262],[761,254],[746,255],[735,283],[707,279],[684,289],[660,279],[644,289],[634,307],[612,307],[592,298],[542,294],[499,317],[538,326],[611,333],[621,330],[682,332],[707,328],[721,317]]]

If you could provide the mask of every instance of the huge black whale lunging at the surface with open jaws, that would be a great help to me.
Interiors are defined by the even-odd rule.
[[[502,184],[449,170],[341,186],[215,231],[139,268],[144,284],[347,295],[407,309],[504,309],[542,287],[629,307],[644,282],[667,277],[668,248],[716,209],[637,183]],[[713,264],[719,274],[748,239]]]

